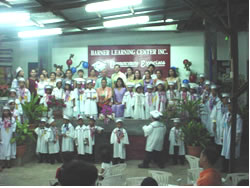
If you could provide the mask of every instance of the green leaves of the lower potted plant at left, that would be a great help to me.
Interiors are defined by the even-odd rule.
[[[28,122],[21,124],[19,121],[16,122],[16,132],[13,138],[11,138],[10,142],[16,142],[18,146],[26,143],[27,139],[35,141],[33,136],[33,130],[29,128]]]

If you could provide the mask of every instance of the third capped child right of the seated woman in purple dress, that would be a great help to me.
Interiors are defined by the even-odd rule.
[[[150,112],[155,110],[155,93],[153,92],[153,85],[147,85],[147,92],[145,93],[145,118],[150,118]]]

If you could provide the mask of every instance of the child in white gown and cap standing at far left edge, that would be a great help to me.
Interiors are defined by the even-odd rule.
[[[0,160],[3,160],[4,167],[8,168],[10,168],[10,159],[14,158],[11,152],[11,139],[15,136],[15,129],[16,120],[12,117],[9,106],[4,106],[0,118]]]

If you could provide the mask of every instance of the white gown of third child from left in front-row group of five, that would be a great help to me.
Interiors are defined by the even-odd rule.
[[[75,138],[75,131],[74,127],[71,123],[68,124],[68,129],[66,128],[65,124],[61,127],[61,133],[66,134],[66,137],[62,137],[62,152],[65,151],[74,151],[74,138]]]

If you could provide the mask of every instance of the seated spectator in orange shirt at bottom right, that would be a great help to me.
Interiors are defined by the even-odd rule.
[[[213,168],[218,155],[215,149],[206,148],[200,155],[200,167],[204,170],[200,173],[196,185],[198,186],[219,186],[221,183],[220,173]]]

